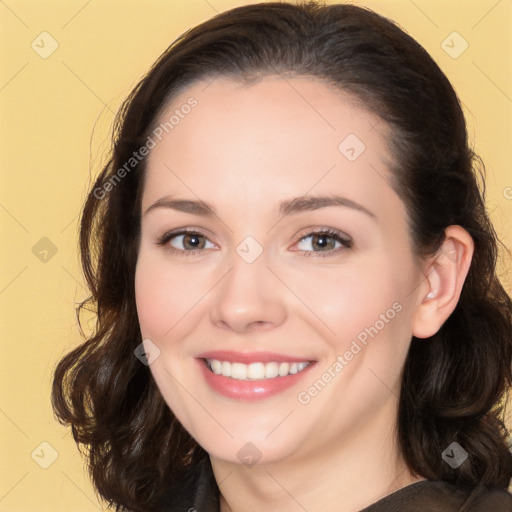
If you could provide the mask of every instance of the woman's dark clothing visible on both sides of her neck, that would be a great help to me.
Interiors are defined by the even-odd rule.
[[[220,512],[219,490],[209,459],[197,469],[179,491],[165,496],[162,512]],[[512,494],[503,489],[467,489],[424,480],[395,491],[361,512],[512,512]]]

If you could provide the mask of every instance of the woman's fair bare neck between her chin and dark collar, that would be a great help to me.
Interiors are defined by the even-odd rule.
[[[413,482],[392,429],[359,431],[314,455],[247,467],[211,457],[221,512],[354,512]]]

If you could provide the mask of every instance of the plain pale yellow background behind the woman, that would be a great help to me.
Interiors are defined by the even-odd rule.
[[[102,510],[49,398],[56,361],[81,341],[74,313],[75,302],[86,296],[77,259],[79,210],[90,172],[98,171],[108,148],[113,115],[130,89],[184,30],[246,3],[0,2],[0,511]],[[491,217],[510,248],[512,2],[354,3],[396,20],[454,84],[486,164]],[[442,47],[454,31],[469,44],[456,59]],[[59,45],[46,59],[31,47],[42,32]],[[57,249],[46,262],[33,252],[43,237]],[[501,268],[510,292],[510,271]],[[58,453],[47,469],[36,463],[49,460],[42,442]]]

